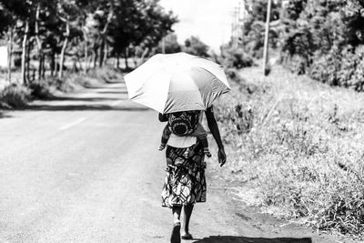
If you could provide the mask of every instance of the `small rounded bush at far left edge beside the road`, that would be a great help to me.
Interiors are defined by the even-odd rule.
[[[21,108],[26,106],[30,100],[30,89],[25,86],[12,84],[6,86],[4,90],[0,92],[0,100],[7,106],[13,108]]]

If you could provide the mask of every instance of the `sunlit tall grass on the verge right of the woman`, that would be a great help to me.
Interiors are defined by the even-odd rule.
[[[364,94],[260,69],[243,69],[217,105],[224,176],[269,213],[363,239]]]

